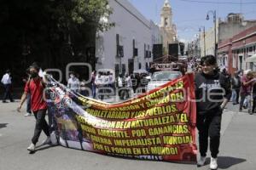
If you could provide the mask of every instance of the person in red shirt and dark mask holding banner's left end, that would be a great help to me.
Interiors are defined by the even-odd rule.
[[[45,121],[45,114],[47,111],[46,102],[43,99],[44,93],[44,82],[41,77],[38,76],[40,68],[38,65],[31,65],[29,67],[29,72],[31,75],[31,80],[26,82],[24,93],[20,99],[20,105],[17,111],[20,112],[20,108],[26,100],[27,94],[31,94],[31,107],[32,112],[36,118],[36,126],[34,130],[34,135],[32,137],[32,144],[29,145],[27,150],[35,151],[36,144],[38,142],[40,133],[42,130],[47,136],[47,139],[44,140],[43,144],[49,144],[49,125]]]

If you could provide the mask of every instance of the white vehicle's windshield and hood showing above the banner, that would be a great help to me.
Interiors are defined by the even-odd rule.
[[[157,71],[154,72],[150,82],[147,85],[147,91],[154,88],[158,88],[167,82],[170,82],[178,77],[182,77],[183,74],[180,71]]]

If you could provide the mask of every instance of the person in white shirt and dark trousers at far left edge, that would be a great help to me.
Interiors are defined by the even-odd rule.
[[[3,87],[4,87],[3,103],[7,103],[6,101],[7,98],[9,98],[10,102],[14,102],[15,100],[13,99],[11,94],[12,77],[9,70],[5,72],[1,82],[3,83]]]

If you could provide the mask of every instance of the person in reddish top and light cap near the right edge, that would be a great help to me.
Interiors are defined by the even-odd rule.
[[[244,100],[247,98],[247,109],[248,113],[252,113],[252,105],[251,105],[251,92],[253,87],[253,82],[256,79],[253,78],[253,72],[250,70],[244,71],[244,75],[241,77],[241,88],[240,88],[240,106],[239,111],[242,111],[242,107],[244,105]]]

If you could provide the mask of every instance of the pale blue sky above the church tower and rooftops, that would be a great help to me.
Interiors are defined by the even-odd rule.
[[[154,22],[160,23],[160,10],[165,0],[129,1],[148,20],[154,20]],[[195,37],[195,34],[199,33],[200,26],[206,26],[206,29],[213,26],[212,14],[210,14],[210,20],[206,20],[207,12],[209,10],[215,9],[217,17],[220,17],[222,20],[224,20],[229,13],[242,13],[246,20],[256,20],[255,0],[196,0],[198,2],[213,3],[193,3],[191,1],[194,0],[169,0],[172,6],[172,20],[177,26],[177,34],[180,39],[191,40]]]

